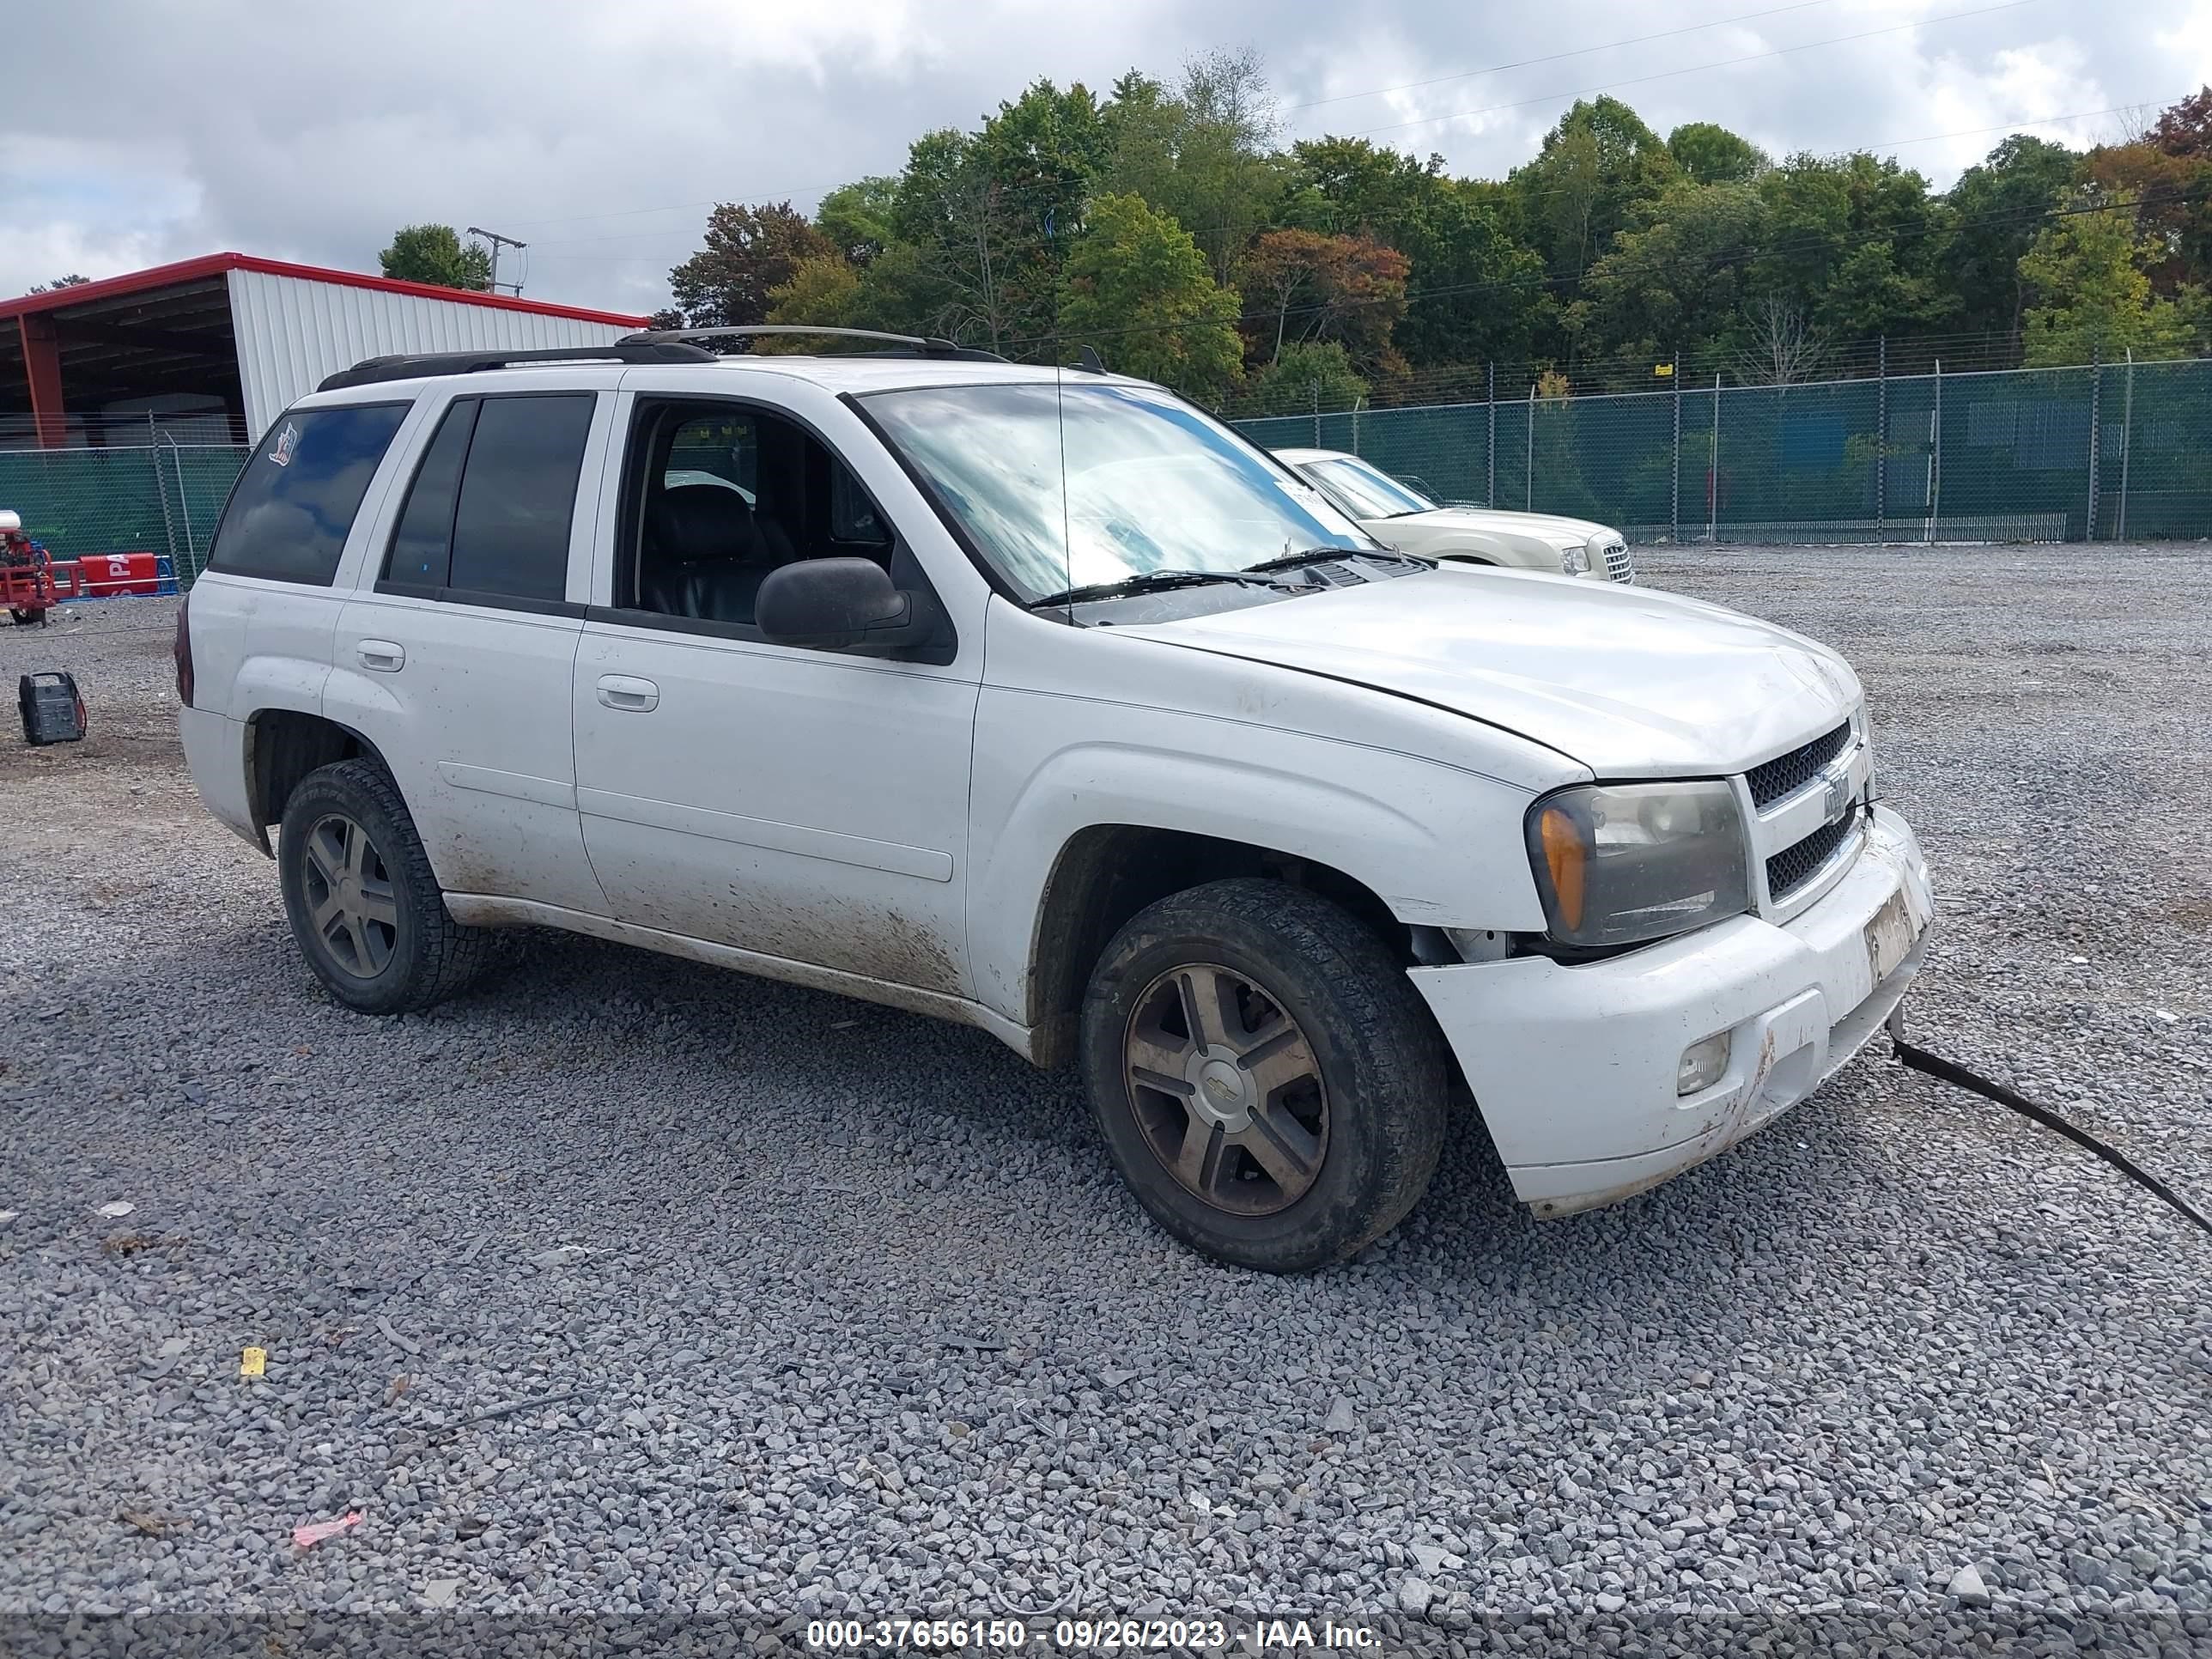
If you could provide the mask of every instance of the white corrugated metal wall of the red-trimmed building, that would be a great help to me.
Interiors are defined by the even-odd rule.
[[[314,392],[325,374],[394,352],[535,349],[606,345],[628,325],[518,312],[504,305],[387,294],[378,288],[230,272],[230,325],[239,341],[248,440]]]

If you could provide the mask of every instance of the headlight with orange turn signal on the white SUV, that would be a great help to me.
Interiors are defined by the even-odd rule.
[[[1586,783],[1528,807],[1528,863],[1562,945],[1635,945],[1752,907],[1730,785]]]

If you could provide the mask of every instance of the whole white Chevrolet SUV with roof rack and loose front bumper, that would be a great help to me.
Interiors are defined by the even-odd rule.
[[[1455,1097],[1535,1210],[1608,1203],[1920,967],[1809,639],[1394,553],[1137,380],[538,356],[332,376],[177,622],[199,792],[281,825],[354,1009],[538,922],[960,1020],[1082,1066],[1172,1234],[1301,1270],[1413,1208]]]

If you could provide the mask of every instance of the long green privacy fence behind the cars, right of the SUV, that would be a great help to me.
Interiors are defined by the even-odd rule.
[[[1524,396],[1239,420],[1438,500],[1635,540],[2212,535],[2212,361]]]

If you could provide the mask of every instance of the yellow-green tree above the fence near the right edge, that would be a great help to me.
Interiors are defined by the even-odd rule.
[[[2183,356],[2199,345],[2203,305],[2190,290],[2181,301],[2150,292],[2143,263],[2159,246],[2137,237],[2126,206],[2084,192],[2081,208],[2053,219],[2020,259],[2020,276],[2035,296],[2026,312],[2031,367],[2088,363],[2132,349],[2137,356]]]

